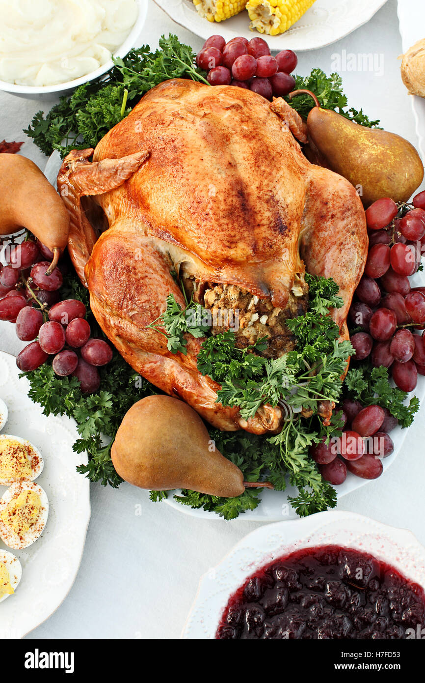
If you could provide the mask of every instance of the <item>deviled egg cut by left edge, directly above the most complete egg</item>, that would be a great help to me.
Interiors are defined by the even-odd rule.
[[[0,484],[33,482],[43,470],[42,454],[20,436],[0,434]]]

